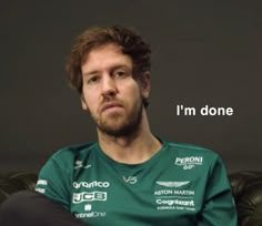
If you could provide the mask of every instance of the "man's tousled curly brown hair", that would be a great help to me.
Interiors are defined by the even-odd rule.
[[[131,58],[135,79],[141,79],[142,73],[151,70],[150,45],[133,30],[120,25],[88,29],[77,38],[66,65],[69,84],[80,94],[82,93],[81,66],[87,55],[93,49],[111,43],[119,45],[122,53]]]

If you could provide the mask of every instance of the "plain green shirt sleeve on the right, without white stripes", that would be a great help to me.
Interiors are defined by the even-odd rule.
[[[236,226],[238,215],[225,167],[218,156],[209,174],[198,226]]]

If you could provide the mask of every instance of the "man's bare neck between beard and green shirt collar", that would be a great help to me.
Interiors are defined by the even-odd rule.
[[[149,160],[161,148],[161,143],[150,131],[143,110],[140,126],[135,133],[125,136],[110,136],[98,130],[99,144],[112,160],[125,164],[139,164]]]

